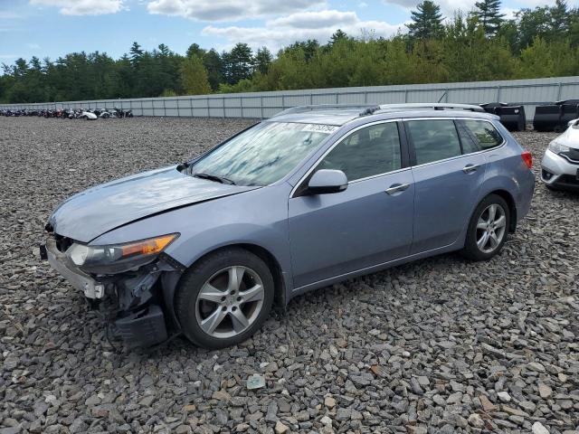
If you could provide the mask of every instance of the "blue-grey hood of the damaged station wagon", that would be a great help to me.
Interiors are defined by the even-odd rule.
[[[52,212],[52,231],[89,242],[119,226],[152,214],[243,193],[259,187],[219,184],[184,175],[176,166],[100,184],[75,194]],[[159,229],[170,232],[171,228]]]

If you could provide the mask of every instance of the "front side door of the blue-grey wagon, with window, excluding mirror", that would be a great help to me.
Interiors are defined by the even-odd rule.
[[[289,198],[296,288],[408,255],[414,186],[399,127],[390,121],[358,128],[315,165],[311,173],[342,170],[346,191],[303,195],[298,188]]]

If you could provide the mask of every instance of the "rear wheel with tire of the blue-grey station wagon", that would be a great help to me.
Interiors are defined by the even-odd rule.
[[[498,194],[489,194],[470,218],[462,255],[471,260],[491,259],[507,241],[509,225],[508,203]]]

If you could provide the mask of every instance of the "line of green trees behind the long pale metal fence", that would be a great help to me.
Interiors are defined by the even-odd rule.
[[[555,5],[523,8],[507,19],[500,0],[481,0],[469,13],[444,17],[423,0],[407,32],[299,41],[274,57],[237,43],[229,52],[193,43],[185,55],[160,44],[134,42],[118,60],[104,52],[72,52],[43,61],[3,64],[0,101],[146,98],[214,92],[298,90],[470,80],[509,80],[579,73],[579,10]]]

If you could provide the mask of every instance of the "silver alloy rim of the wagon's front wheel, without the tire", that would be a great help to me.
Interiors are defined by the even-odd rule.
[[[227,267],[205,281],[195,302],[195,319],[212,337],[240,335],[260,316],[264,297],[263,282],[253,269]]]

